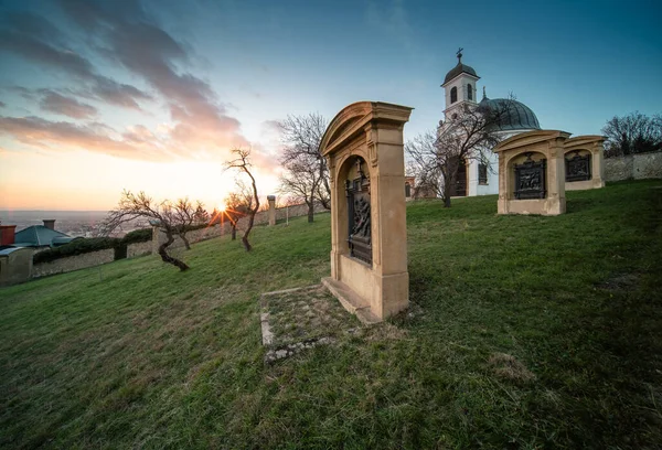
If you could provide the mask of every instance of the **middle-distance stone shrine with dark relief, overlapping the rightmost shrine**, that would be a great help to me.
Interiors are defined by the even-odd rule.
[[[499,154],[499,214],[565,213],[564,156],[569,136],[535,130],[515,135],[494,148]]]

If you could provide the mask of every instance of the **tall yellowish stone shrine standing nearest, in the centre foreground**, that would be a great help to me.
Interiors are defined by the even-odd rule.
[[[327,128],[331,277],[322,282],[364,323],[409,304],[403,128],[413,108],[361,101]]]

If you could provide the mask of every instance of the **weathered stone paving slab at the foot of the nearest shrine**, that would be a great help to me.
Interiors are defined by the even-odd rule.
[[[335,342],[361,326],[322,285],[263,293],[260,307],[267,363]]]

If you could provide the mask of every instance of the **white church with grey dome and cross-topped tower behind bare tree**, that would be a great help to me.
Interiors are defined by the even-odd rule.
[[[521,101],[506,98],[490,99],[482,89],[482,99],[478,101],[477,82],[480,76],[473,67],[462,64],[461,49],[458,52],[458,64],[451,68],[444,78],[441,87],[446,94],[446,109],[444,122],[449,122],[461,114],[466,107],[481,108],[483,110],[502,110],[504,117],[499,121],[500,137],[508,139],[525,131],[540,130],[537,117],[531,108]],[[489,152],[485,161],[469,158],[460,163],[453,196],[474,196],[499,193],[499,158]]]

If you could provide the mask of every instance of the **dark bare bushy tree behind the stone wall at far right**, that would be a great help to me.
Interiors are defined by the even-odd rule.
[[[605,157],[662,150],[662,115],[653,117],[634,111],[612,117],[602,128],[607,137]]]

